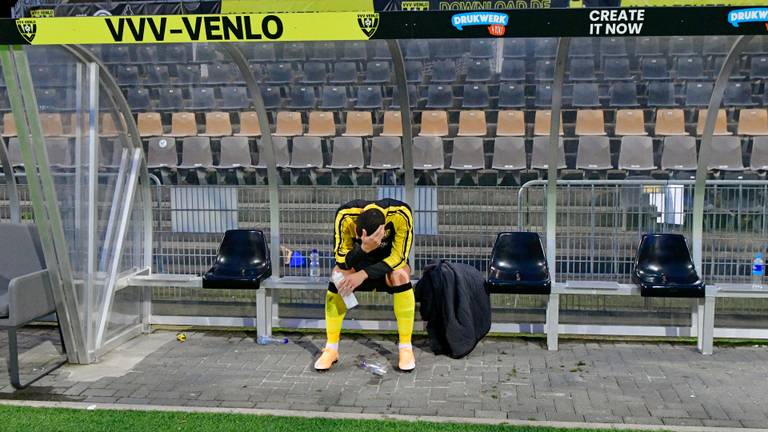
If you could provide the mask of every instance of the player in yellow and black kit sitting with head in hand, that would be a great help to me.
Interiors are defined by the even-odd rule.
[[[411,346],[416,310],[408,253],[413,243],[413,216],[407,204],[394,199],[354,200],[336,212],[334,253],[344,280],[328,284],[325,322],[328,337],[315,369],[326,371],[339,360],[339,339],[347,308],[343,297],[353,291],[384,291],[394,296],[400,336],[399,368],[416,367]]]

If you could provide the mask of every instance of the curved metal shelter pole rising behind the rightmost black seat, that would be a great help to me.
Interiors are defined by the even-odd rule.
[[[715,133],[717,111],[723,101],[725,86],[731,76],[733,66],[739,59],[739,55],[752,40],[753,36],[740,36],[725,57],[723,66],[717,75],[712,96],[709,98],[707,118],[704,123],[704,133],[701,135],[699,146],[699,163],[696,167],[696,184],[693,187],[693,227],[691,243],[693,248],[693,264],[703,275],[703,232],[704,232],[704,194],[706,193],[707,166],[709,165],[710,149],[712,148],[712,136]]]

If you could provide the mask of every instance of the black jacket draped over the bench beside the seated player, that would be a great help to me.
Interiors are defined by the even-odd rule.
[[[461,358],[491,329],[491,299],[474,267],[441,261],[416,284],[421,319],[435,354]]]

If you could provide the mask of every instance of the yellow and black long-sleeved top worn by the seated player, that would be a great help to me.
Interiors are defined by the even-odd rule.
[[[357,217],[370,208],[384,213],[384,238],[377,250],[365,253],[355,235]],[[339,207],[334,228],[336,265],[342,269],[365,269],[368,278],[384,277],[408,264],[413,243],[413,215],[402,201],[385,198],[378,201],[354,200]],[[372,234],[372,233],[369,233]]]

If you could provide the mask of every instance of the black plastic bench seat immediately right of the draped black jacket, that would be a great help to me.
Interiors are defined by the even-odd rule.
[[[485,287],[492,294],[549,294],[552,284],[539,235],[533,232],[499,234]]]

